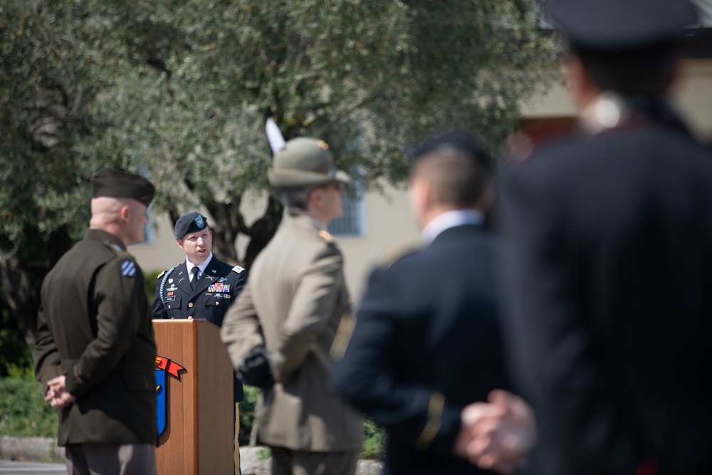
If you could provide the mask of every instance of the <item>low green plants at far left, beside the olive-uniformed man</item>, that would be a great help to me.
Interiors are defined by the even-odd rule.
[[[0,378],[0,434],[56,437],[59,415],[36,380]]]

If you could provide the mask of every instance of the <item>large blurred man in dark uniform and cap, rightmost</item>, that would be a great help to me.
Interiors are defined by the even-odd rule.
[[[712,473],[712,154],[666,100],[686,0],[550,1],[580,130],[503,188],[547,474]]]

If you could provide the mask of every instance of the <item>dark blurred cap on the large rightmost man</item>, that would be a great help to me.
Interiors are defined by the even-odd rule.
[[[671,43],[698,21],[688,0],[549,0],[546,10],[573,48],[604,51]]]

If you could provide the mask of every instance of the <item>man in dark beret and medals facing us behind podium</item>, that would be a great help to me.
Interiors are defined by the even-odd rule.
[[[159,274],[151,312],[153,318],[204,318],[217,326],[245,282],[247,271],[219,261],[212,253],[213,231],[199,212],[180,216],[174,227],[176,244],[186,253],[179,265]],[[235,472],[239,473],[239,403],[242,382],[234,377]]]

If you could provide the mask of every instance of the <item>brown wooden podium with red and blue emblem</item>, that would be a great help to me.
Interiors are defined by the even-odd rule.
[[[165,367],[158,475],[233,474],[233,370],[220,328],[199,319],[153,320],[153,329]]]

